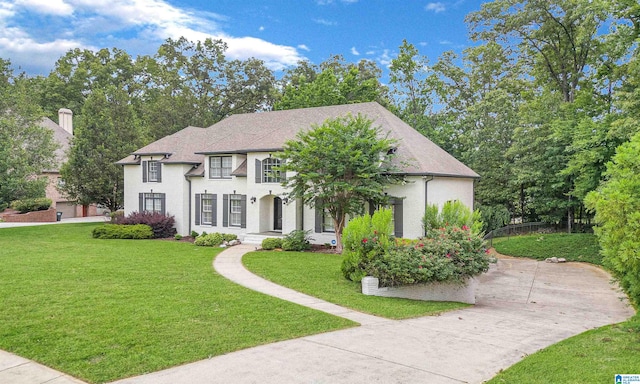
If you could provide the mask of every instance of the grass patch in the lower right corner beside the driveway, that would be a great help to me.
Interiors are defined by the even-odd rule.
[[[640,373],[640,315],[554,344],[487,383],[613,383],[618,373]]]

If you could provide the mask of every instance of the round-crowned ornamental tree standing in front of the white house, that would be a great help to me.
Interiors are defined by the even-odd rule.
[[[287,197],[330,214],[338,252],[347,216],[362,214],[367,202],[383,203],[385,186],[402,179],[395,145],[360,114],[328,119],[285,143],[281,171],[295,173],[282,183]]]

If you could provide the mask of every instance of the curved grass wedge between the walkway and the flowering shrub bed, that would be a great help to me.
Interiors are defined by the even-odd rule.
[[[360,283],[342,276],[342,256],[311,252],[260,251],[242,259],[252,272],[277,284],[357,311],[390,319],[433,315],[468,304],[365,296]]]

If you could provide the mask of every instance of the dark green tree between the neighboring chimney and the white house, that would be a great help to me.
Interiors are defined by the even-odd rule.
[[[113,86],[94,90],[75,132],[69,160],[60,170],[61,189],[80,204],[122,208],[124,175],[115,162],[146,142],[128,95]]]

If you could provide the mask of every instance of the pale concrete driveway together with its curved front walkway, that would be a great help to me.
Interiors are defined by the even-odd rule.
[[[250,348],[118,381],[163,383],[482,383],[557,341],[633,315],[603,270],[500,258],[468,309],[392,321],[359,314],[252,275],[253,247],[220,253],[221,275],[270,295],[356,320],[357,328]]]

